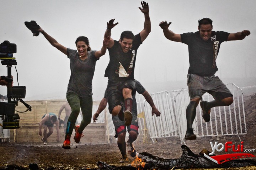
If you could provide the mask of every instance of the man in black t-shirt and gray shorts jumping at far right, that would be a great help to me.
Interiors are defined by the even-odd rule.
[[[194,140],[192,124],[196,117],[196,107],[202,100],[202,95],[206,92],[211,94],[213,101],[201,101],[203,119],[210,121],[210,109],[216,106],[228,106],[233,103],[233,95],[225,84],[214,76],[218,70],[216,59],[219,53],[220,44],[225,41],[242,40],[250,35],[250,31],[244,30],[237,33],[227,33],[224,31],[212,31],[212,20],[202,18],[198,21],[198,31],[195,33],[176,34],[169,28],[171,22],[160,22],[167,39],[188,45],[188,55],[190,67],[187,75],[188,93],[190,103],[186,109],[187,132],[185,139]]]

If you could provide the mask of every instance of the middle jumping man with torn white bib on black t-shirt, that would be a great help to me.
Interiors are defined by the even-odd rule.
[[[149,17],[148,3],[142,1],[140,11],[144,13],[145,21],[143,30],[134,35],[131,31],[124,31],[121,34],[119,41],[110,38],[107,46],[110,61],[105,71],[105,77],[108,77],[107,98],[108,109],[112,116],[124,115],[125,125],[129,126],[132,122],[132,93],[134,93],[134,67],[137,55],[137,50],[142,42],[148,37],[151,32],[151,22]],[[118,23],[114,24],[114,20],[107,23],[106,36],[111,35],[111,29]],[[124,109],[122,108],[124,104]],[[123,113],[123,110],[124,113]],[[117,141],[120,150],[126,147],[125,136],[118,135]],[[126,155],[122,154],[123,160],[126,160]]]

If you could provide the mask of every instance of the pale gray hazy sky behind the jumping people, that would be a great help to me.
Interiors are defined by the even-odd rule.
[[[187,88],[187,45],[171,42],[158,26],[161,21],[172,22],[175,33],[196,32],[198,20],[209,17],[214,31],[235,33],[244,29],[251,35],[242,41],[224,42],[217,58],[216,73],[224,83],[239,86],[256,85],[256,1],[255,0],[148,0],[151,33],[140,46],[135,65],[135,78],[149,93]],[[1,0],[0,42],[9,40],[17,45],[14,54],[18,65],[18,82],[26,86],[24,100],[65,99],[70,77],[69,59],[39,35],[33,37],[25,21],[36,21],[60,44],[76,49],[80,35],[89,38],[92,50],[100,50],[107,22],[116,18],[112,38],[130,30],[143,29],[144,15],[139,0]],[[108,51],[97,61],[93,79],[93,99],[100,100],[107,86],[104,77],[109,61]],[[0,76],[7,75],[0,65]],[[14,86],[17,84],[12,67]],[[0,94],[7,89],[0,87]]]

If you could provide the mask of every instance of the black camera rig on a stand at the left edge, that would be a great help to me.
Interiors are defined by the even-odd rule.
[[[0,60],[2,65],[6,65],[8,76],[1,76],[1,79],[4,79],[7,84],[7,98],[8,102],[0,102],[0,117],[2,118],[3,129],[15,129],[19,127],[20,116],[15,113],[16,105],[18,101],[23,103],[28,110],[31,111],[31,106],[26,104],[22,98],[26,96],[26,86],[14,86],[12,87],[12,76],[11,76],[11,67],[12,65],[17,65],[13,53],[16,53],[17,48],[16,44],[10,43],[5,40],[0,44]],[[27,110],[27,111],[28,111]]]

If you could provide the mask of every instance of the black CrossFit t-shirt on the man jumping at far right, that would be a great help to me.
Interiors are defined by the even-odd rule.
[[[188,73],[199,76],[213,76],[218,71],[216,59],[220,44],[227,41],[228,36],[229,33],[224,31],[212,31],[210,38],[205,41],[200,37],[199,31],[181,34],[181,42],[188,45],[190,62]]]

